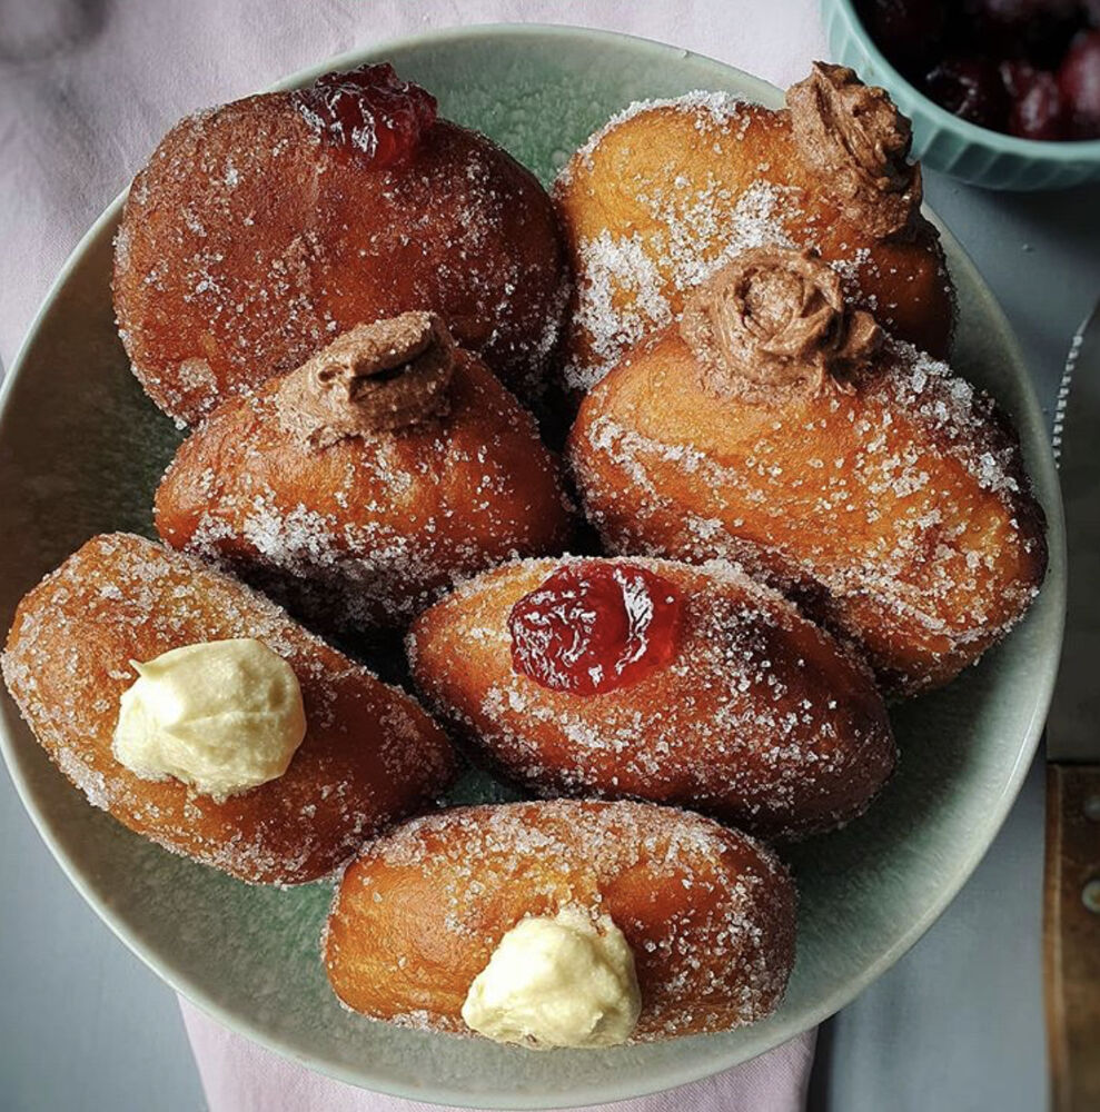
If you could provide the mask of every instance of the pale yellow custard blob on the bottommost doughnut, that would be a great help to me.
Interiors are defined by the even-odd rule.
[[[521,920],[501,939],[463,1004],[466,1024],[532,1048],[614,1046],[642,1010],[623,932],[578,907]]]

